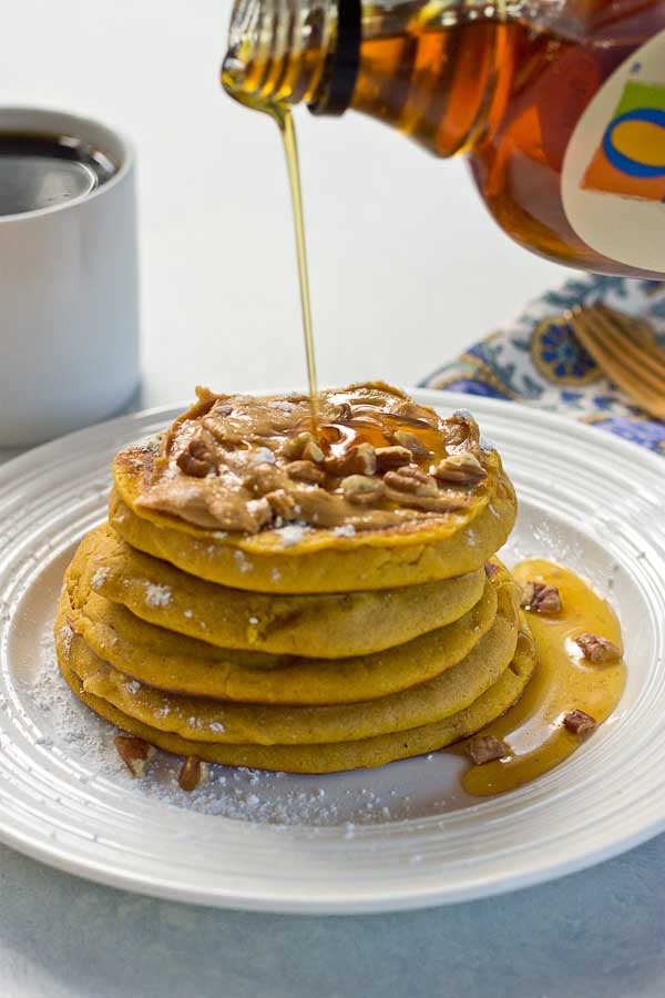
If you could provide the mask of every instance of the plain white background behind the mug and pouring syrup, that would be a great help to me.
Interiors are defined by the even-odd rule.
[[[231,0],[4,0],[0,100],[139,152],[147,404],[305,377],[277,130],[218,84]],[[412,384],[566,271],[494,225],[462,162],[298,113],[321,383]]]

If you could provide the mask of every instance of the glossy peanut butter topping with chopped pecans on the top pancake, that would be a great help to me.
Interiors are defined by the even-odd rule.
[[[200,527],[257,533],[285,521],[368,530],[468,515],[491,496],[498,458],[481,448],[469,414],[441,419],[382,383],[354,385],[319,394],[315,438],[308,403],[304,395],[262,399],[200,389],[198,401],[164,437],[136,506]],[[366,467],[362,456],[352,459],[360,446]],[[402,454],[397,485],[395,471],[380,464],[387,447]],[[442,461],[463,458],[470,471],[441,472]],[[401,471],[420,480],[405,483]],[[358,496],[355,487],[369,491]]]

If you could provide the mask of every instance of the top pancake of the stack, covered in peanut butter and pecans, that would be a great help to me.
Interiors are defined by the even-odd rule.
[[[255,592],[391,589],[480,568],[515,497],[467,413],[377,383],[265,399],[200,389],[113,464],[112,526],[202,579]]]

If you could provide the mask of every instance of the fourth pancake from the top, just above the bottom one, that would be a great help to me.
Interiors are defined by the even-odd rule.
[[[368,703],[284,706],[181,696],[146,686],[113,669],[75,634],[68,663],[83,689],[153,727],[192,741],[287,745],[350,742],[441,721],[469,706],[513,658],[516,588],[499,590],[494,623],[457,665],[417,686]]]

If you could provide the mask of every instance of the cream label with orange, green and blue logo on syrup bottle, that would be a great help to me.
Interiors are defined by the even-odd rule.
[[[665,31],[633,52],[586,106],[561,186],[566,217],[592,249],[665,273]]]

